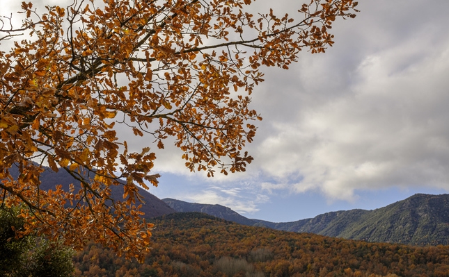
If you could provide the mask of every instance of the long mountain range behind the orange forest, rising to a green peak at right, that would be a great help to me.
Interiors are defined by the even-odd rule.
[[[205,212],[249,226],[368,242],[449,244],[449,194],[415,194],[376,210],[327,212],[311,219],[281,223],[248,219],[221,205],[187,203],[175,199],[163,201],[178,212]]]

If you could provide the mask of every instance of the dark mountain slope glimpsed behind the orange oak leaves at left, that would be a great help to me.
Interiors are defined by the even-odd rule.
[[[18,176],[18,171],[16,167],[10,168],[10,173],[13,176]],[[62,185],[63,190],[69,190],[69,185],[73,183],[75,187],[75,191],[81,188],[81,183],[75,180],[67,171],[61,169],[58,172],[52,171],[49,167],[45,167],[45,171],[42,172],[40,176],[40,189],[41,190],[50,190],[54,189],[56,185]],[[145,212],[144,217],[160,217],[162,215],[167,215],[173,212],[176,212],[172,208],[170,208],[164,201],[157,198],[150,192],[143,190],[143,188],[139,187],[139,194],[143,196],[143,205],[141,208],[141,212]],[[112,199],[123,199],[123,187],[120,185],[111,185],[111,198]]]

